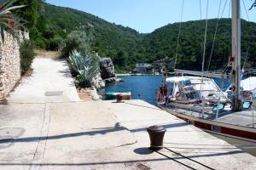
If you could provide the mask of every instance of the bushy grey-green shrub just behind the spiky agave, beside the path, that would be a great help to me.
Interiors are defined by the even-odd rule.
[[[91,37],[84,31],[72,31],[67,35],[65,47],[62,48],[62,57],[67,58],[73,50],[81,51],[84,54],[90,53]]]

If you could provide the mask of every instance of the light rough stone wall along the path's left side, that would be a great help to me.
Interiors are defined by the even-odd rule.
[[[4,42],[0,41],[0,101],[6,98],[9,92],[20,80],[20,45],[19,41],[4,32]],[[28,38],[28,33],[21,33],[19,40]]]

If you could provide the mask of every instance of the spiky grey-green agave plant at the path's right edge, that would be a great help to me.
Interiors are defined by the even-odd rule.
[[[69,62],[77,73],[79,86],[90,87],[92,79],[99,73],[99,57],[96,54],[83,54],[74,50],[69,56]]]

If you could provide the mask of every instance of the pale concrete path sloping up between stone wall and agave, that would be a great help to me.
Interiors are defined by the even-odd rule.
[[[36,58],[32,77],[23,78],[8,98],[11,103],[79,101],[65,59]]]

